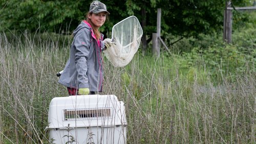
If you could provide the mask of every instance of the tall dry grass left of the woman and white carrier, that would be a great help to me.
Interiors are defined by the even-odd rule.
[[[2,143],[42,142],[49,102],[65,93],[55,73],[69,49],[58,49],[50,36],[38,36],[0,35]]]

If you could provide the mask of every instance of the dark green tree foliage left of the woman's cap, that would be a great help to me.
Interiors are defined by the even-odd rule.
[[[71,23],[77,25],[84,14],[79,9],[82,4],[72,1],[14,0],[1,1],[1,5],[2,29],[10,30],[69,31]]]

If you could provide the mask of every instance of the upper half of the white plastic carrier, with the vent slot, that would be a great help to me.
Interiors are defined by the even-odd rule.
[[[48,123],[48,129],[127,125],[123,102],[116,95],[98,94],[53,98]]]

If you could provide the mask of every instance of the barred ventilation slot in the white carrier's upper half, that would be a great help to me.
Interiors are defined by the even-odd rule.
[[[84,118],[97,118],[97,117],[109,117],[111,116],[111,109],[65,109],[64,117],[65,121],[73,119],[84,119]]]

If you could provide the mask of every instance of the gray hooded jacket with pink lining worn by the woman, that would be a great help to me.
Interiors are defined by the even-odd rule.
[[[87,21],[82,21],[73,32],[74,40],[70,47],[70,58],[58,82],[71,88],[89,88],[90,91],[101,92],[103,35],[101,34],[99,47],[89,25]]]

